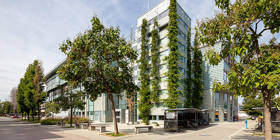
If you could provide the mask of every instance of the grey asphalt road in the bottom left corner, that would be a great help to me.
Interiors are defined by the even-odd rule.
[[[53,131],[46,128],[12,121],[10,118],[0,117],[0,139],[9,140],[43,140],[43,139],[67,139],[77,140],[85,138]]]

